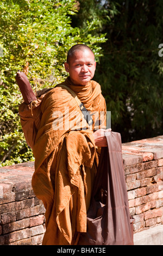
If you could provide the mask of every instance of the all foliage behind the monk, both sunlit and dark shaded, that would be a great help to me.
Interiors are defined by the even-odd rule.
[[[0,163],[33,159],[18,117],[17,69],[34,90],[55,86],[77,43],[95,52],[95,80],[122,142],[162,135],[162,13],[161,0],[0,1]]]

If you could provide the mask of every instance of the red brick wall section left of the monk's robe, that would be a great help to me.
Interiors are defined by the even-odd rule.
[[[0,245],[40,245],[45,209],[33,193],[34,163],[0,168]]]

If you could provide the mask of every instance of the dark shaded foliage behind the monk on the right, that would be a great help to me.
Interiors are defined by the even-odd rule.
[[[97,1],[98,2],[98,1]],[[162,135],[162,1],[105,1],[108,40],[97,66],[112,130],[122,141]]]

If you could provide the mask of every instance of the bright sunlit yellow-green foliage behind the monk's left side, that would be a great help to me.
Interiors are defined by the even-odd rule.
[[[67,76],[66,53],[77,43],[87,44],[101,56],[104,34],[93,34],[97,19],[85,21],[85,28],[72,27],[77,14],[75,0],[0,1],[0,165],[33,160],[18,117],[22,101],[15,81],[24,71],[34,91],[52,87]]]

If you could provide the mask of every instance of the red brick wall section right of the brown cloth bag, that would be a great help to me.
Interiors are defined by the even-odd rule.
[[[122,144],[134,231],[163,224],[163,136]]]

